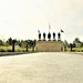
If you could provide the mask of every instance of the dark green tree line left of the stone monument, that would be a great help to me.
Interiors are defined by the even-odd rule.
[[[17,40],[17,39],[12,39],[12,38],[9,38],[7,41],[3,41],[3,40],[0,40],[0,45],[2,46],[9,46],[9,45],[12,45],[13,44],[13,41],[14,41],[14,45],[18,45],[20,48],[32,48],[32,46],[35,46],[35,42],[37,40]]]

